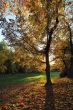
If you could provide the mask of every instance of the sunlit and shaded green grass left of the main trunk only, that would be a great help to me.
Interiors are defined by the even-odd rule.
[[[44,74],[8,74],[0,75],[0,88],[15,84],[34,82],[39,79],[44,79]]]

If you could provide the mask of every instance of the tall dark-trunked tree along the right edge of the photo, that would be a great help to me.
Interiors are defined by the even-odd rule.
[[[62,72],[62,76],[68,76],[72,77],[73,76],[73,41],[72,41],[72,36],[73,36],[73,31],[72,31],[72,1],[64,1],[64,13],[62,13],[61,16],[61,21],[62,23],[59,25],[61,28],[60,30],[62,31],[64,40],[67,40],[66,43],[66,48],[62,47],[59,53],[61,53],[63,56],[67,56],[67,58],[62,56],[62,61],[64,63],[64,69]],[[59,28],[57,28],[59,30]],[[59,32],[59,31],[58,31]],[[59,35],[59,34],[58,34]],[[62,36],[60,36],[62,38]],[[60,43],[60,41],[59,41]],[[63,45],[62,45],[63,46]],[[58,49],[57,49],[58,50]],[[59,51],[59,50],[58,50]],[[58,55],[58,53],[56,54]],[[60,58],[60,56],[58,56]],[[56,59],[56,58],[55,58]],[[62,65],[61,65],[62,66]],[[63,67],[63,66],[62,66]]]

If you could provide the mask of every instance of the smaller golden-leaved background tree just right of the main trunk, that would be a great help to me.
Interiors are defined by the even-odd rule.
[[[54,68],[60,70],[61,77],[67,76],[70,68],[70,45],[68,39],[57,38],[53,41],[55,47],[52,50],[54,55]]]

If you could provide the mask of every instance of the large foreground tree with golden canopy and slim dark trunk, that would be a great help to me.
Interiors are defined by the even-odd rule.
[[[33,54],[37,54],[37,52],[42,52],[44,54],[46,60],[46,84],[48,84],[50,80],[49,51],[52,35],[59,23],[58,18],[61,3],[62,1],[59,0],[45,0],[42,2],[30,0],[26,3],[24,2],[23,7],[21,8],[20,6],[22,3],[19,1],[19,4],[17,4],[17,13],[19,14],[18,22],[20,21],[18,23],[19,29],[22,34],[18,38],[17,36],[13,37],[11,30],[9,32],[7,31],[7,37],[9,37],[9,41],[15,45],[15,48],[17,48],[17,46],[22,46],[26,51],[32,52]],[[24,14],[23,9],[28,12],[28,19],[25,19],[26,14]],[[27,25],[24,27],[26,23]],[[10,24],[8,25],[8,29],[11,29],[9,26]],[[40,51],[38,47],[43,44],[43,39],[45,37],[46,41],[44,47]],[[31,41],[32,43],[30,44]]]

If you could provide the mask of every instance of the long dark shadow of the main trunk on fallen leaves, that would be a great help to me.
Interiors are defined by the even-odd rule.
[[[45,91],[46,91],[46,97],[45,97],[44,110],[56,110],[51,80],[49,82],[49,85],[45,86]]]

